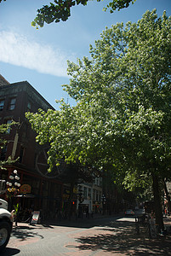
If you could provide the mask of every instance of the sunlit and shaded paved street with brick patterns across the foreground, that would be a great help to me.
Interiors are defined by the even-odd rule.
[[[134,218],[97,218],[59,224],[19,224],[2,256],[171,255],[171,236],[136,234]]]

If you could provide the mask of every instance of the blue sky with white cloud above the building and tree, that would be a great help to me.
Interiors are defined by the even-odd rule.
[[[101,3],[89,1],[86,7],[71,9],[66,22],[45,25],[38,30],[31,26],[37,9],[50,0],[7,0],[0,3],[0,74],[10,83],[28,81],[54,108],[61,97],[74,102],[63,91],[68,84],[66,61],[77,61],[89,55],[89,44],[100,38],[105,26],[140,20],[147,9],[163,10],[171,15],[171,0],[137,0],[128,9],[110,14]],[[53,2],[53,1],[52,1]]]

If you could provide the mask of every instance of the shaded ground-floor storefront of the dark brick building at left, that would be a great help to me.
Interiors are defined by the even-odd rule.
[[[14,167],[7,167],[8,171],[1,170],[1,179],[9,180]],[[41,211],[43,218],[55,218],[56,212],[62,206],[63,184],[54,179],[46,179],[34,173],[27,173],[18,168],[20,175],[20,193],[14,195],[13,205],[20,203],[20,211],[32,208]],[[9,201],[8,195],[1,196]]]

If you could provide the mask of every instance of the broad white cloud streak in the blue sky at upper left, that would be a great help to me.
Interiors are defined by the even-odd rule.
[[[0,32],[0,61],[20,67],[66,77],[66,61],[70,59],[60,49],[29,41],[14,32]]]

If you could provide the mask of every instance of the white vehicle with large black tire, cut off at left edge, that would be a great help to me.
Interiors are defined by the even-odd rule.
[[[7,246],[13,228],[13,215],[8,211],[8,202],[0,199],[0,252]]]

